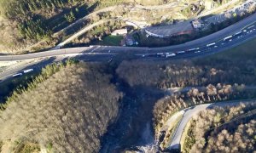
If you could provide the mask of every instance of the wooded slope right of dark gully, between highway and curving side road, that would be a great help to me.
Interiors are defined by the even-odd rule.
[[[254,47],[255,39],[207,58],[123,61],[116,72],[131,87],[165,91],[165,96],[156,101],[152,110],[154,136],[160,139],[161,127],[177,111],[205,103],[255,99]],[[170,95],[172,88],[180,90]]]

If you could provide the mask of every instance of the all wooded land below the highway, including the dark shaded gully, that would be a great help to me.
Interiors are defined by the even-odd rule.
[[[2,148],[11,144],[11,150],[41,150],[39,146],[44,146],[57,152],[134,149],[131,146],[145,144],[148,139],[159,139],[160,128],[167,119],[189,106],[255,99],[256,54],[253,48],[255,40],[207,58],[113,59],[108,64],[49,65],[41,76],[34,78],[25,88],[18,88],[7,103],[1,105],[0,139],[3,141],[0,144]],[[172,93],[172,88],[179,90]],[[251,130],[248,129],[253,126],[253,118],[243,119],[245,122],[239,118],[230,122],[249,112],[247,108],[253,109],[254,106],[216,109],[201,115],[201,118],[214,116],[206,120],[218,122],[210,122],[211,125],[205,122],[203,126],[206,133],[209,126],[214,130],[212,128],[213,131],[204,136],[205,141],[197,144],[195,139],[199,137],[196,137],[188,139],[187,142],[193,143],[184,146],[188,151],[195,147],[206,151],[229,150],[218,147],[226,142],[222,133],[225,133],[225,139],[235,137],[236,133],[247,133],[245,138],[251,139]],[[231,116],[231,111],[236,112]],[[220,116],[226,118],[219,120]],[[198,120],[203,122],[204,119]],[[230,129],[233,124],[236,126]],[[196,119],[191,125],[200,124]],[[195,135],[193,130],[189,129],[191,138]],[[218,138],[211,133],[220,135],[218,146],[212,144]],[[170,136],[172,132],[168,134]],[[163,144],[166,139],[164,141]],[[236,150],[243,151],[242,147],[252,149],[251,142],[248,145],[244,144],[244,139],[240,142],[243,146]]]

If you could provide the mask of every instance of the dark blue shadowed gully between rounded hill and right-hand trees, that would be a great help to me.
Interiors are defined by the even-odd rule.
[[[153,109],[157,99],[164,96],[160,89],[153,87],[130,87],[117,78],[119,91],[124,93],[120,101],[119,116],[102,136],[100,152],[120,152],[136,149],[136,146],[154,142]],[[149,125],[149,127],[148,127]],[[149,128],[149,129],[148,129]],[[143,132],[151,136],[143,138]],[[150,140],[148,139],[150,138]]]

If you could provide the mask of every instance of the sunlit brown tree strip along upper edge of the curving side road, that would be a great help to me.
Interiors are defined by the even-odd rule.
[[[192,105],[212,103],[228,99],[249,98],[255,92],[246,91],[244,85],[218,85],[215,87],[209,84],[203,88],[191,88],[189,91],[173,94],[164,99],[160,99],[154,105],[154,128],[159,133],[160,127],[175,112],[183,110]]]

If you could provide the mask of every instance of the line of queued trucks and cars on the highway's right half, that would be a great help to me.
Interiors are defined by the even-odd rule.
[[[178,54],[199,54],[201,52],[205,52],[205,51],[210,51],[212,48],[218,48],[220,45],[224,45],[228,42],[231,42],[233,39],[236,38],[240,38],[243,37],[244,35],[251,33],[253,31],[255,31],[255,26],[249,26],[247,27],[247,29],[242,30],[242,31],[238,31],[233,35],[230,35],[228,37],[224,37],[221,41],[218,42],[211,42],[208,43],[206,46],[201,46],[198,48],[189,48],[186,50],[181,50],[181,51],[177,51],[177,52],[167,52],[167,53],[157,53],[157,54],[142,54],[142,57],[164,57],[164,58],[172,58],[177,56]]]

